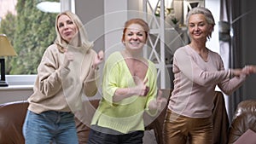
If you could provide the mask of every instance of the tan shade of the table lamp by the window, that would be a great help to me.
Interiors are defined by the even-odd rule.
[[[17,55],[5,34],[0,34],[0,56]]]

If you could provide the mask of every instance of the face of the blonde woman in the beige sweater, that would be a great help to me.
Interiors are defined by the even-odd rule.
[[[72,40],[74,35],[78,32],[78,27],[75,25],[66,14],[62,14],[57,21],[58,31],[61,37],[68,43]]]

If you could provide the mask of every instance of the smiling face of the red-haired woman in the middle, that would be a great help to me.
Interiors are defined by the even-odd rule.
[[[146,39],[143,26],[131,24],[125,31],[123,43],[125,43],[126,49],[143,49]]]

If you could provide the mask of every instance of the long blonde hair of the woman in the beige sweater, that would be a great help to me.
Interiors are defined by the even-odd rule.
[[[90,49],[93,47],[93,42],[89,42],[88,37],[87,37],[87,32],[85,31],[85,28],[83,26],[83,23],[79,19],[79,16],[77,14],[73,14],[71,11],[64,11],[56,16],[55,19],[55,31],[57,34],[57,37],[55,39],[55,43],[58,45],[58,49],[63,53],[64,49],[67,49],[68,45],[70,43],[67,43],[66,40],[64,40],[61,37],[61,34],[59,32],[58,28],[58,19],[60,18],[61,15],[66,14],[71,20],[73,20],[73,23],[78,27],[78,38],[79,38],[79,43],[77,44],[76,47],[81,48],[81,49]]]

